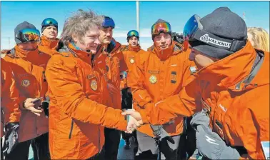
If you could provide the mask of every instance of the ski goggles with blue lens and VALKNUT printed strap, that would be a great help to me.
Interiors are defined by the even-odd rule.
[[[238,51],[246,44],[246,40],[224,39],[208,31],[204,31],[204,26],[201,24],[200,19],[201,18],[195,14],[186,22],[183,31],[185,41],[201,41],[210,46],[226,49],[228,51]]]

